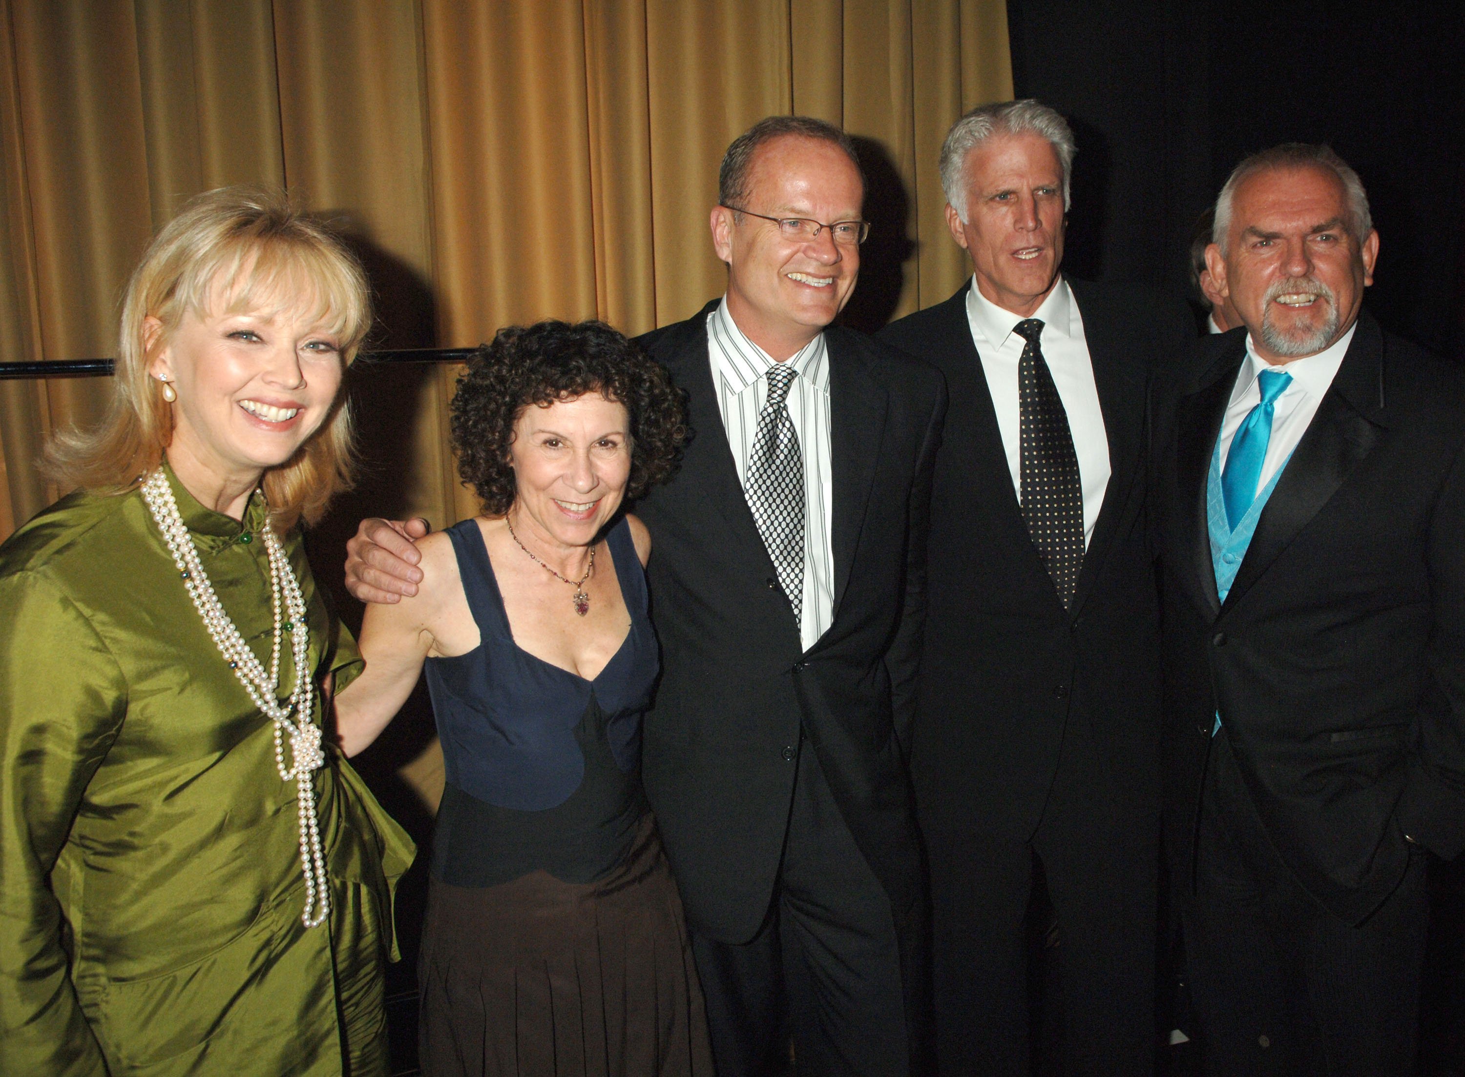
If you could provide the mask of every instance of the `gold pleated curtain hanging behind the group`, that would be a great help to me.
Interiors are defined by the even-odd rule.
[[[114,354],[149,234],[226,183],[335,218],[390,345],[552,316],[643,332],[721,294],[718,161],[788,111],[860,138],[876,233],[851,318],[873,328],[961,282],[936,151],[1011,95],[1004,0],[0,0],[0,360]],[[476,509],[454,376],[355,378],[368,468],[315,537],[322,575],[357,512]],[[45,435],[108,391],[0,380],[0,538],[59,493]]]

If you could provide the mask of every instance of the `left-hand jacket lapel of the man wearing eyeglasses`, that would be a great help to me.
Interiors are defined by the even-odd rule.
[[[687,394],[687,424],[693,432],[677,481],[668,490],[675,490],[689,503],[709,508],[721,517],[724,534],[737,544],[744,559],[768,575],[772,574],[774,562],[737,477],[732,446],[728,443],[712,385],[705,320],[699,318],[697,322],[699,328],[690,331],[689,326],[686,339],[664,360],[672,380]]]

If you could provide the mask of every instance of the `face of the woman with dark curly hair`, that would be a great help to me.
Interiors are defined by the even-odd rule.
[[[541,549],[589,546],[626,495],[630,416],[599,392],[530,404],[514,421],[508,461],[516,487],[510,514],[520,537],[532,534]]]

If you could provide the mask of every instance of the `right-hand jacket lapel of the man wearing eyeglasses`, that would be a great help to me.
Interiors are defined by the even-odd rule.
[[[825,341],[829,348],[829,465],[834,471],[834,610],[838,615],[880,458],[886,392],[870,373],[870,359],[844,332],[831,329]]]

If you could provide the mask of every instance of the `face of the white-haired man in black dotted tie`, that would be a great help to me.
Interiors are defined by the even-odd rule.
[[[952,239],[971,255],[977,291],[1028,318],[1064,260],[1064,168],[1042,135],[993,135],[967,154],[967,219],[946,206]]]

